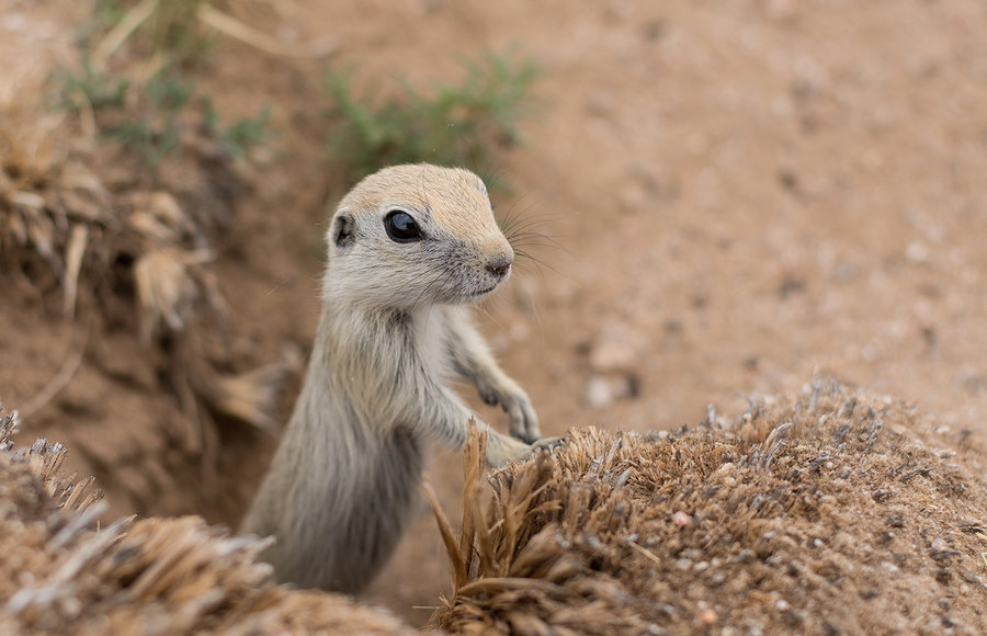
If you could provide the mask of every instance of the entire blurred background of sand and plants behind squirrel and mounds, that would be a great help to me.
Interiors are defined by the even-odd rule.
[[[110,516],[236,525],[328,215],[401,161],[521,224],[480,320],[546,434],[726,423],[815,374],[985,430],[978,0],[0,7],[0,402]],[[423,624],[446,579],[422,503],[368,598]]]

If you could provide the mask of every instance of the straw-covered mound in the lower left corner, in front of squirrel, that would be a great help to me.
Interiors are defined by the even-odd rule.
[[[11,448],[0,419],[0,633],[409,634],[384,611],[291,591],[256,563],[265,542],[196,516],[99,529],[92,480],[58,477],[61,444]]]

